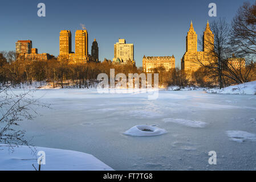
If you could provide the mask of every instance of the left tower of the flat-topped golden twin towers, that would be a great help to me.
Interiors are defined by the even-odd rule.
[[[66,55],[71,53],[71,31],[62,30],[59,33],[59,54]]]

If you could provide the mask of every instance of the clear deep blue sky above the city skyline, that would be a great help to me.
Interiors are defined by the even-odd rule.
[[[37,5],[46,5],[46,17],[38,17]],[[208,16],[208,5],[217,5],[217,17]],[[99,44],[99,59],[113,59],[119,38],[134,44],[136,65],[142,65],[143,55],[171,56],[176,67],[185,52],[185,37],[193,20],[198,38],[209,22],[225,17],[230,22],[242,0],[17,0],[1,1],[0,51],[15,49],[17,40],[32,40],[39,53],[59,55],[59,32],[71,30],[72,51],[75,51],[75,31],[85,24],[88,46],[94,39]],[[250,0],[254,3],[255,0]],[[200,51],[200,48],[198,48]]]

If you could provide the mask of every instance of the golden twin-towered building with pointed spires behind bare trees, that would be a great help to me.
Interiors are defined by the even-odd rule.
[[[210,30],[209,22],[207,22],[203,36],[203,51],[197,51],[197,34],[191,22],[186,36],[186,52],[181,59],[181,69],[185,71],[189,80],[192,78],[192,72],[197,71],[202,66],[201,64],[206,65],[216,59],[212,54],[213,47],[214,34]]]

